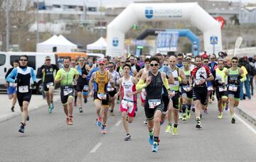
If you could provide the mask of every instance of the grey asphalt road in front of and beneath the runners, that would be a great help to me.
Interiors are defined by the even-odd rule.
[[[230,124],[229,112],[218,120],[216,104],[203,115],[203,129],[197,130],[194,114],[187,122],[179,120],[178,136],[161,127],[159,152],[152,153],[139,106],[131,128],[132,140],[124,141],[119,105],[109,118],[107,134],[96,126],[92,99],[83,113],[74,113],[74,125],[65,125],[60,102],[52,114],[47,108],[30,113],[25,134],[18,132],[21,117],[0,122],[0,161],[256,161],[256,134],[236,121]]]

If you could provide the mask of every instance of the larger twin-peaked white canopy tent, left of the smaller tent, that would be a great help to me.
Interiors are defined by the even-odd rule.
[[[48,40],[36,45],[36,52],[73,52],[78,45],[67,40],[63,35],[53,35]]]

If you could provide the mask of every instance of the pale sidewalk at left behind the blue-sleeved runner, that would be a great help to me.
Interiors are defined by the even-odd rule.
[[[54,92],[54,97],[53,101],[60,100],[60,95],[59,91]],[[11,112],[11,103],[12,100],[9,100],[7,94],[0,94],[0,103],[1,103],[1,108],[0,108],[0,122],[3,122],[5,120],[9,120],[11,118],[14,118],[18,115],[21,115],[21,110],[18,105],[18,100],[15,105],[15,112]],[[28,111],[31,110],[36,110],[42,106],[47,107],[46,100],[43,100],[43,97],[41,95],[34,95],[32,94],[31,97],[31,102],[28,105]],[[46,110],[47,111],[47,110]]]

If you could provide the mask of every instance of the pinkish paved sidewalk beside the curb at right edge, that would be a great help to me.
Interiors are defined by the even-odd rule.
[[[250,100],[240,100],[236,112],[256,126],[256,96],[252,96]]]

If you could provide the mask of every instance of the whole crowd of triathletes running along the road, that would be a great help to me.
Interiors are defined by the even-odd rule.
[[[132,139],[129,124],[136,117],[138,105],[142,105],[149,144],[152,151],[157,152],[160,129],[165,121],[165,132],[177,135],[179,120],[186,122],[191,113],[195,113],[195,129],[202,129],[202,114],[208,113],[208,103],[214,98],[218,100],[216,119],[222,119],[223,110],[229,109],[230,122],[235,124],[235,107],[241,94],[244,98],[241,85],[245,82],[245,96],[250,99],[246,85],[256,75],[252,74],[255,68],[251,72],[245,64],[239,64],[241,59],[244,62],[246,58],[228,58],[224,52],[220,52],[218,58],[215,54],[208,56],[206,53],[196,57],[181,53],[171,56],[157,53],[140,59],[134,55],[105,57],[96,60],[95,64],[88,64],[87,57],[80,57],[76,60],[64,58],[63,68],[58,69],[58,66],[51,64],[50,57],[46,57],[46,63],[35,75],[28,66],[30,60],[22,55],[6,74],[6,82],[9,99],[13,100],[11,111],[15,111],[18,100],[22,112],[18,132],[24,133],[29,120],[31,84],[36,84],[38,76],[43,81],[48,113],[54,109],[53,91],[56,85],[60,85],[60,100],[67,125],[73,125],[73,107],[78,106],[78,111],[84,112],[90,96],[95,104],[96,125],[102,134],[107,134],[108,115],[113,116],[114,109],[120,110],[126,132],[124,141]],[[256,56],[251,65],[255,61]],[[249,86],[252,87],[253,83]]]

